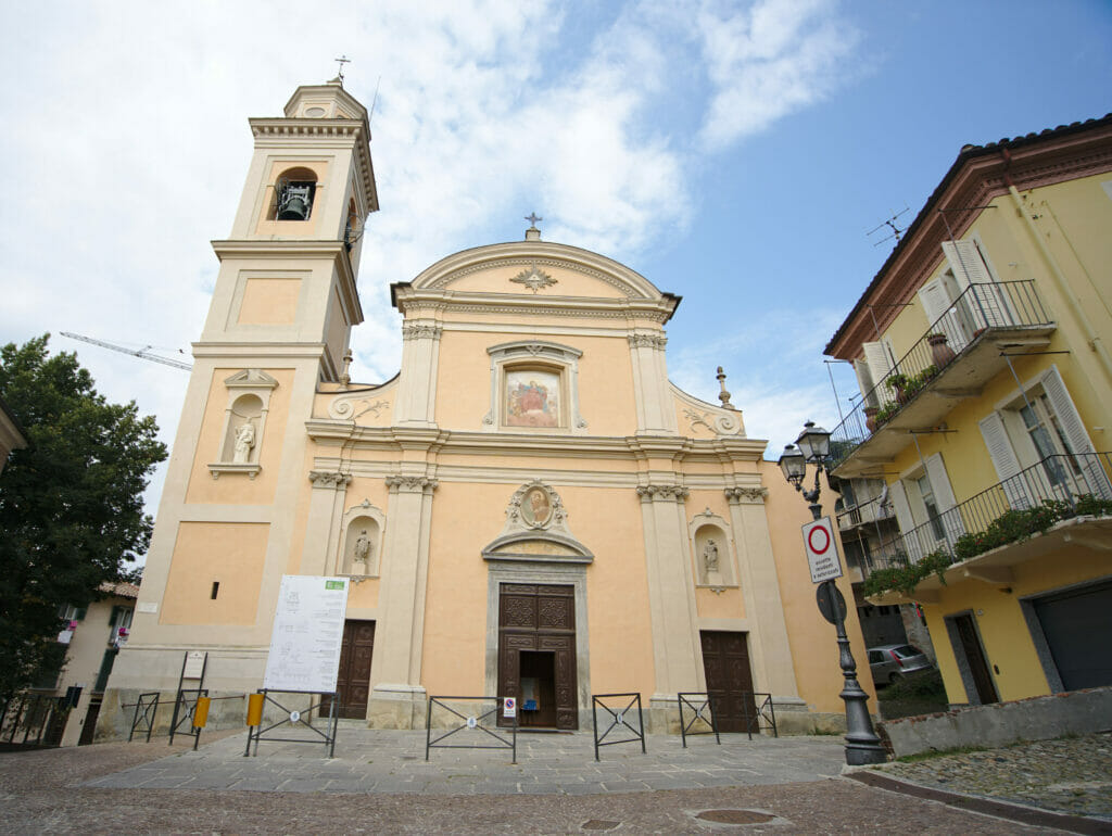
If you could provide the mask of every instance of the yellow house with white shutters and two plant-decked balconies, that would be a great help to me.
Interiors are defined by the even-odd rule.
[[[863,401],[834,472],[901,535],[952,704],[1112,685],[1112,116],[966,146],[826,352]]]

